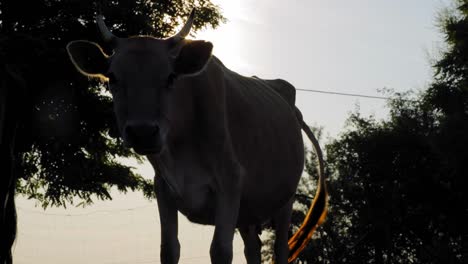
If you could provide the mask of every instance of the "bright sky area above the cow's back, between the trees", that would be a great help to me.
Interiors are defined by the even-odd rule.
[[[436,12],[441,0],[223,1],[229,22],[198,34],[214,54],[244,75],[282,78],[296,88],[382,95],[424,89],[430,59],[440,50]],[[286,4],[287,3],[287,4]],[[386,116],[386,102],[297,93],[310,125],[330,137],[343,131],[349,112]]]

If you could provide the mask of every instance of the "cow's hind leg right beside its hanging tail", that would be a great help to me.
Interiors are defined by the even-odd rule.
[[[273,227],[275,228],[275,264],[287,264],[289,256],[288,231],[291,222],[292,204],[291,199],[278,213],[273,217]]]

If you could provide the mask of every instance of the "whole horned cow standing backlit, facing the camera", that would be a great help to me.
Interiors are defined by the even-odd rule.
[[[214,55],[213,44],[189,40],[195,12],[174,36],[119,38],[97,17],[104,53],[94,42],[72,41],[77,70],[108,82],[124,144],[155,170],[161,222],[161,263],[178,263],[177,212],[214,225],[212,263],[232,262],[237,228],[247,263],[260,263],[262,224],[272,224],[275,262],[293,261],[327,212],[323,157],[284,80],[245,77]],[[289,240],[295,192],[304,168],[301,129],[316,149],[318,193]]]

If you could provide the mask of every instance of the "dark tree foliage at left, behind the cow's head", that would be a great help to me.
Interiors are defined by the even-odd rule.
[[[197,8],[195,31],[224,20],[208,0],[41,0],[28,2],[27,8],[24,1],[2,1],[0,74],[24,84],[24,91],[9,99],[18,109],[10,115],[20,120],[15,151],[19,193],[44,207],[88,204],[93,195],[111,199],[113,186],[151,193],[151,181],[116,161],[137,157],[117,136],[112,101],[102,84],[77,73],[65,46],[76,39],[100,42],[98,12],[117,36],[166,37],[192,7]],[[18,86],[2,83],[1,89],[18,92]]]

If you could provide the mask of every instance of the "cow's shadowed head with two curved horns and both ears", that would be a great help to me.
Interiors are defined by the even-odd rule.
[[[213,45],[186,40],[194,11],[175,36],[156,39],[148,36],[118,38],[98,16],[97,24],[104,41],[113,48],[106,55],[93,42],[77,40],[67,45],[76,68],[88,77],[108,82],[114,111],[124,143],[139,154],[159,154],[170,122],[167,97],[176,78],[195,75],[207,64]]]

